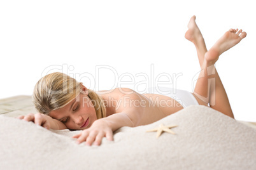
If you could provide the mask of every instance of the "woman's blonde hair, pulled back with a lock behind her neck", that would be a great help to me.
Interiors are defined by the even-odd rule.
[[[97,119],[106,117],[106,107],[103,98],[95,91],[88,89],[88,96],[96,110]],[[82,82],[78,82],[69,75],[54,72],[39,79],[34,87],[33,103],[41,114],[50,114],[52,110],[68,105],[82,92]]]

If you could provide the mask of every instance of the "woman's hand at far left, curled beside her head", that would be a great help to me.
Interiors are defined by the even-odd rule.
[[[50,122],[47,119],[48,115],[44,114],[27,114],[20,115],[17,118],[23,119],[24,121],[34,122],[34,124],[38,124],[39,126],[43,126],[43,128],[50,129]]]

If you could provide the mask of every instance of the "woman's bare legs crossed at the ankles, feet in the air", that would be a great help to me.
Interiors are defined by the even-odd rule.
[[[246,36],[246,33],[242,32],[242,30],[231,29],[207,52],[203,36],[195,20],[196,16],[192,16],[188,23],[188,31],[185,34],[186,39],[193,42],[196,46],[199,63],[202,69],[199,79],[197,79],[194,94],[204,102],[209,102],[211,108],[234,118],[227,93],[214,67],[214,63],[217,62],[218,56],[224,53],[224,51],[238,44],[238,42]]]

